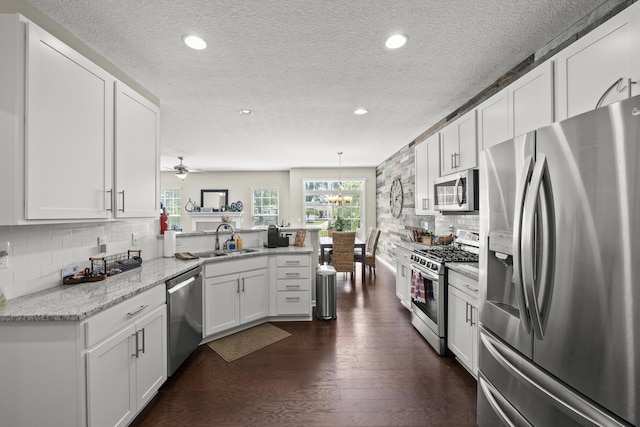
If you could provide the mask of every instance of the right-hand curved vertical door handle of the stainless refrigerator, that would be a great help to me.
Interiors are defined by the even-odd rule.
[[[547,295],[547,290],[550,286],[548,285],[550,279],[548,268],[550,263],[550,239],[547,237],[552,234],[550,232],[550,217],[552,217],[552,215],[548,212],[550,207],[550,203],[548,203],[547,200],[547,197],[550,195],[547,194],[550,192],[548,175],[547,157],[544,153],[538,153],[536,165],[531,174],[531,184],[522,215],[521,251],[523,259],[522,277],[524,295],[527,307],[529,308],[533,333],[539,340],[544,338],[544,328],[542,325],[541,304],[539,303],[538,297]],[[547,177],[546,180],[544,179],[545,176]],[[543,181],[545,182],[544,186]],[[539,213],[539,221],[536,213]],[[542,242],[543,248],[541,252],[540,274],[536,276],[538,268],[536,249],[538,241]],[[536,277],[538,278],[537,284],[539,285],[537,291]]]

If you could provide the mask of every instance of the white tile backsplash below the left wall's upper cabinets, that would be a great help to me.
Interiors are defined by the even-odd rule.
[[[0,290],[11,299],[61,284],[63,268],[100,253],[98,237],[105,238],[107,254],[135,248],[143,259],[156,258],[162,255],[158,230],[157,219],[0,226],[0,246],[11,244],[9,266],[0,269]]]

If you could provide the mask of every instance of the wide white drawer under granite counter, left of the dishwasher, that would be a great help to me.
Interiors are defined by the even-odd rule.
[[[159,285],[89,318],[84,324],[86,348],[99,343],[165,302],[166,287]]]

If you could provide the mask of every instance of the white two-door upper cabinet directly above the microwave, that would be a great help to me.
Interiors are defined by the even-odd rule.
[[[440,155],[442,176],[478,166],[475,109],[440,132]]]

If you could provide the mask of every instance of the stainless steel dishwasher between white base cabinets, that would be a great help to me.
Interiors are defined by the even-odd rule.
[[[167,281],[167,366],[171,376],[202,341],[202,267]]]

